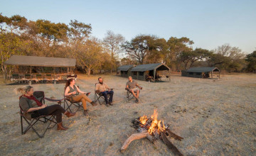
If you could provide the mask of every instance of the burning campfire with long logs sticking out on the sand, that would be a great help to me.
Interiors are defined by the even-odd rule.
[[[121,152],[124,152],[127,149],[128,145],[133,140],[138,140],[142,138],[147,138],[151,143],[154,143],[155,140],[161,139],[164,143],[174,152],[176,155],[182,155],[181,152],[171,143],[169,137],[176,140],[183,139],[182,137],[174,134],[169,129],[169,124],[164,124],[163,121],[157,120],[157,111],[154,110],[154,115],[151,118],[147,116],[141,116],[132,121],[134,127],[139,133],[132,134],[121,147]]]

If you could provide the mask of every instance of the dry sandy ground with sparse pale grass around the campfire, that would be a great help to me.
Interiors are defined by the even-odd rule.
[[[97,76],[79,75],[77,85],[93,90]],[[91,121],[78,111],[73,118],[63,116],[66,131],[56,128],[39,139],[32,130],[21,135],[18,96],[21,85],[1,84],[0,155],[174,155],[161,141],[146,138],[132,142],[124,153],[124,141],[136,133],[132,119],[151,116],[171,124],[184,139],[172,140],[183,155],[256,155],[256,74],[226,74],[218,79],[197,79],[171,75],[171,82],[137,81],[143,87],[141,103],[127,101],[127,78],[101,75],[114,87],[114,106],[88,104]],[[63,98],[65,84],[33,84],[46,96]],[[46,104],[51,104],[48,101]]]

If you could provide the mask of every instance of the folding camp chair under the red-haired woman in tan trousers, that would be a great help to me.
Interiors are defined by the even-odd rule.
[[[79,86],[77,86],[79,88]],[[71,96],[65,96],[65,87],[64,87],[64,109],[66,111],[70,111],[71,113],[73,113],[72,109],[71,109],[71,106],[75,106],[77,107],[78,109],[75,111],[80,111],[82,110],[82,102],[79,102],[79,101],[73,101],[73,99],[71,98]]]

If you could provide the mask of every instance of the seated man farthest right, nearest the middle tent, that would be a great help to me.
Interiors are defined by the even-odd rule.
[[[136,98],[136,103],[139,103],[139,89],[142,89],[142,87],[139,87],[139,84],[133,81],[131,76],[129,76],[128,79],[129,82],[127,82],[125,89],[130,91],[132,95]],[[137,87],[139,87],[139,89],[137,89]]]

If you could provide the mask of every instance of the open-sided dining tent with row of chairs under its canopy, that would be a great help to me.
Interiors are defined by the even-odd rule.
[[[58,79],[65,79],[68,77],[75,77],[75,64],[76,60],[71,58],[60,57],[37,57],[37,56],[23,56],[13,55],[4,62],[4,65],[16,65],[21,67],[29,67],[29,71],[13,73],[11,80],[14,82],[56,82]],[[33,67],[50,67],[52,73],[44,71],[34,71]],[[66,73],[55,73],[55,68],[67,68]],[[33,73],[35,72],[35,73]],[[6,75],[7,76],[7,75]]]

